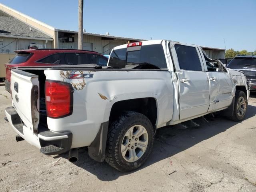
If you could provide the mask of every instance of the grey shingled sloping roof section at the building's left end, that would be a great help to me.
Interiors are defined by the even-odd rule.
[[[10,38],[53,40],[52,37],[14,18],[2,10],[0,10],[0,36]]]

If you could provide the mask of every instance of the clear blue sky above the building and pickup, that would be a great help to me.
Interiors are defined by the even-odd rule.
[[[0,0],[59,29],[78,29],[78,0]],[[256,0],[84,0],[86,32],[256,50]]]

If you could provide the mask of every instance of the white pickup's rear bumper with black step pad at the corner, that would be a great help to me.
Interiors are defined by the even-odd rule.
[[[20,116],[13,107],[5,109],[6,118],[14,131],[28,143],[36,146],[43,154],[61,154],[70,150],[72,144],[72,133],[55,133],[50,130],[34,133],[22,123]]]

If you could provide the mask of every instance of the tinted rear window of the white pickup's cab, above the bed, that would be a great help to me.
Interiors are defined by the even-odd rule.
[[[166,59],[162,45],[142,45],[136,50],[129,48],[113,50],[110,55],[109,66],[125,68],[126,65],[152,64],[161,69],[166,69]]]

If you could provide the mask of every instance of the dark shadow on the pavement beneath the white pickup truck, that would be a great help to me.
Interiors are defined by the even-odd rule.
[[[254,94],[254,96],[255,95],[256,94]],[[245,119],[251,118],[255,115],[256,106],[248,105]],[[218,115],[215,118],[208,116],[207,119],[209,122],[206,122],[203,118],[197,118],[194,120],[194,122],[200,124],[200,127],[189,126],[188,128],[184,129],[181,124],[178,124],[175,126],[166,126],[158,129],[154,140],[152,154],[148,160],[146,160],[145,164],[142,165],[142,167],[134,170],[133,172],[141,170],[163,159],[169,158],[240,123],[227,120],[226,118]],[[59,157],[68,159],[68,153],[54,156],[54,158]],[[87,148],[79,149],[79,160],[74,164],[90,172],[91,174],[96,175],[98,179],[102,181],[116,180],[120,176],[131,173],[119,172],[110,167],[106,162],[99,163],[92,160],[88,156]]]

